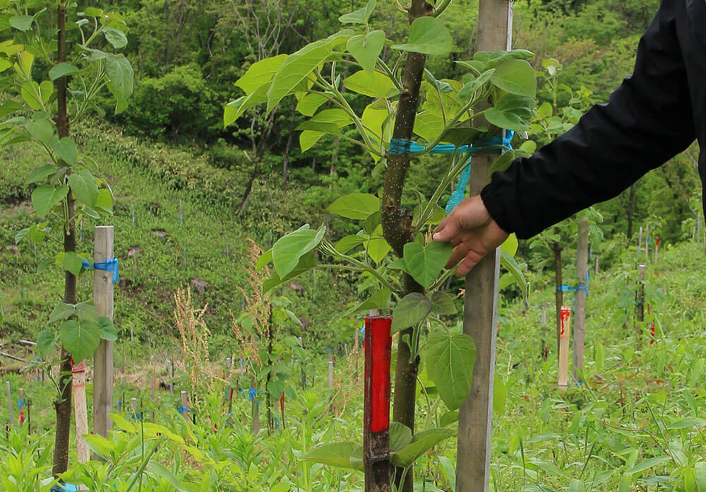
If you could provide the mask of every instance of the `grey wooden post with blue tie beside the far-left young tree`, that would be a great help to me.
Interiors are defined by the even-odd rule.
[[[98,225],[93,230],[93,261],[113,259],[113,226]],[[113,320],[113,272],[94,269],[93,303],[99,316]],[[113,342],[101,340],[94,354],[93,376],[93,430],[108,437],[113,424],[109,414],[113,411]]]

